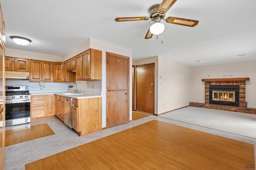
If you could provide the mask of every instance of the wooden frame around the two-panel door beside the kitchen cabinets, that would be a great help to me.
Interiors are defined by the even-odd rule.
[[[127,95],[127,100],[128,100],[128,106],[127,106],[127,117],[128,117],[128,122],[130,122],[130,57],[124,56],[124,55],[119,55],[115,53],[110,53],[106,51],[106,129],[108,128],[108,55],[114,55],[116,57],[124,58],[127,59],[127,65],[128,65],[128,95]]]

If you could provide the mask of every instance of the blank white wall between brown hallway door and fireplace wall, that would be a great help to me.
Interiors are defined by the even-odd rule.
[[[188,106],[191,100],[191,67],[167,56],[158,57],[158,62],[158,114]]]

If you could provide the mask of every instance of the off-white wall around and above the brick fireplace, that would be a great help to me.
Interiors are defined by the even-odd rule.
[[[204,103],[204,82],[202,79],[249,77],[250,81],[246,81],[247,107],[256,108],[256,60],[192,67],[191,76],[191,102],[198,103]]]

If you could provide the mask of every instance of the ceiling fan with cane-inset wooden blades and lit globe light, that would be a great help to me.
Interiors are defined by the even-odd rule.
[[[153,34],[158,35],[164,31],[164,24],[160,23],[161,20],[166,21],[167,23],[174,23],[178,25],[184,25],[188,27],[194,27],[198,24],[199,21],[197,20],[189,20],[185,18],[177,18],[177,17],[167,17],[164,19],[166,12],[172,7],[172,5],[177,0],[163,0],[162,3],[159,5],[153,5],[149,8],[150,17],[123,17],[123,18],[116,18],[115,21],[138,21],[138,20],[153,20],[146,33],[145,39],[152,38]]]

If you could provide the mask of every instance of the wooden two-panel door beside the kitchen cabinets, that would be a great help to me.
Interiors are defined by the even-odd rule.
[[[129,57],[106,53],[107,126],[129,121]]]

